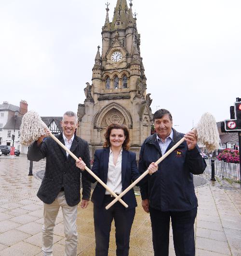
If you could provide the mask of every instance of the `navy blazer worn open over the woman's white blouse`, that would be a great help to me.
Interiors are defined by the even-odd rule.
[[[108,173],[108,163],[109,163],[109,148],[103,148],[96,150],[94,153],[94,164],[92,171],[96,176],[98,176],[104,183],[107,184],[107,173]],[[140,176],[136,164],[135,153],[131,151],[122,150],[122,162],[121,162],[121,182],[122,191],[131,185]],[[88,173],[87,179],[92,183],[96,180]],[[91,201],[97,207],[103,207],[106,189],[97,182],[94,192],[92,194]],[[134,189],[129,190],[124,196],[121,197],[122,200],[128,204],[127,209],[132,209],[137,206]]]

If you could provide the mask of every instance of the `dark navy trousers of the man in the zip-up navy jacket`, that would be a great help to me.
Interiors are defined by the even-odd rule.
[[[154,256],[169,255],[170,217],[176,256],[195,256],[194,222],[197,208],[190,211],[159,211],[150,207]]]

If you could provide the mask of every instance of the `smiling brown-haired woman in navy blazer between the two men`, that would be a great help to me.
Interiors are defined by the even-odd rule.
[[[103,149],[95,151],[92,171],[112,191],[120,194],[140,176],[135,153],[128,151],[129,131],[125,125],[111,124],[107,127],[105,139]],[[81,158],[76,165],[82,170],[85,166]],[[154,173],[157,168],[155,163],[151,163],[148,168],[149,174]],[[93,183],[96,181],[89,173],[88,179]],[[91,198],[94,203],[95,256],[108,256],[109,234],[113,219],[116,227],[116,255],[129,255],[130,233],[137,206],[134,190],[131,189],[122,197],[128,208],[118,201],[106,210],[105,207],[114,198],[97,182]]]

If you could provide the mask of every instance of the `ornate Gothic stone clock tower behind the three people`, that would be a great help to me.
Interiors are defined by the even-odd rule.
[[[98,46],[92,69],[92,85],[86,83],[86,99],[78,106],[78,135],[90,144],[91,157],[101,148],[111,123],[129,128],[131,150],[139,156],[140,145],[150,135],[151,99],[140,55],[140,34],[126,0],[117,0],[109,22],[108,5],[102,27],[102,53]]]

